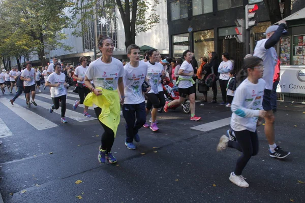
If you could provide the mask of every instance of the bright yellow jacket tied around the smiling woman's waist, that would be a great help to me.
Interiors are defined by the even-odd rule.
[[[84,105],[92,107],[95,104],[102,109],[99,120],[113,130],[115,138],[120,121],[120,104],[117,90],[108,90],[101,87],[96,89],[102,90],[102,95],[97,96],[90,92],[84,100]]]

